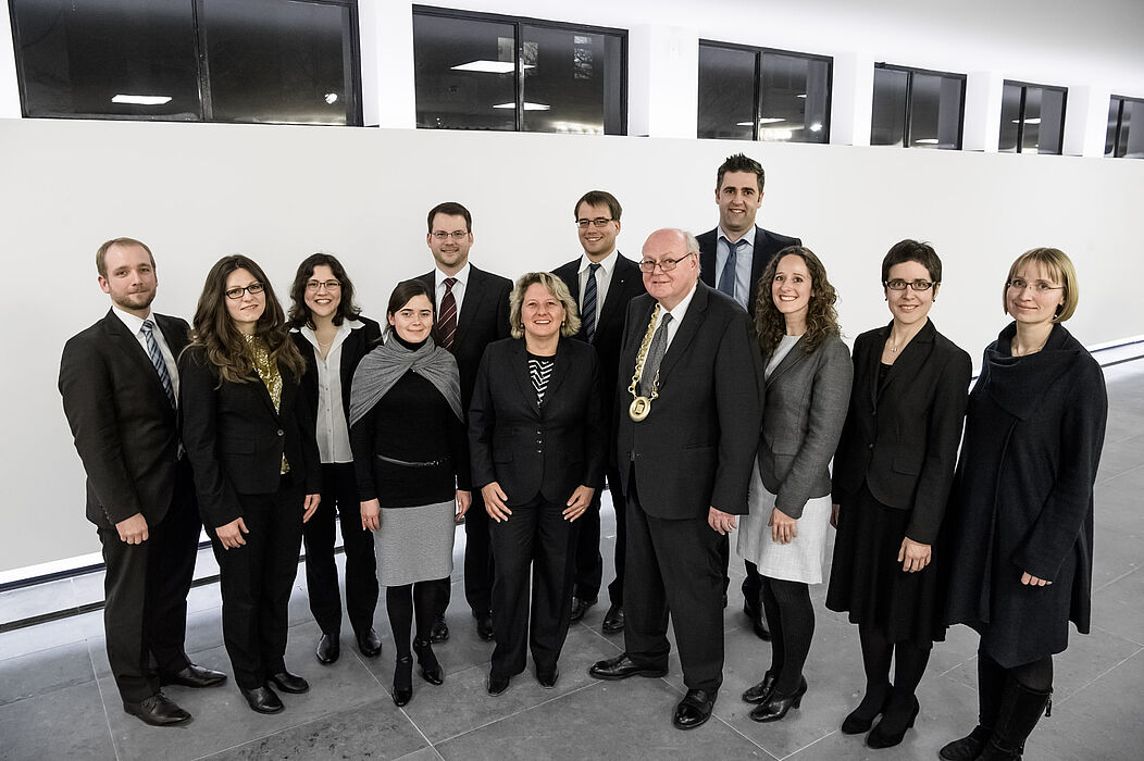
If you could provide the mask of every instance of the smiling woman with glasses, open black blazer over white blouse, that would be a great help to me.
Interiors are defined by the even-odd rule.
[[[321,455],[321,502],[302,530],[310,612],[321,628],[318,661],[332,664],[341,655],[342,594],[334,564],[339,518],[345,548],[345,610],[362,655],[375,658],[381,652],[373,628],[376,562],[373,534],[362,525],[348,420],[353,371],[381,343],[381,326],[362,317],[353,303],[353,284],[329,254],[312,254],[299,264],[289,296],[291,338],[305,359],[302,395],[313,411]]]

